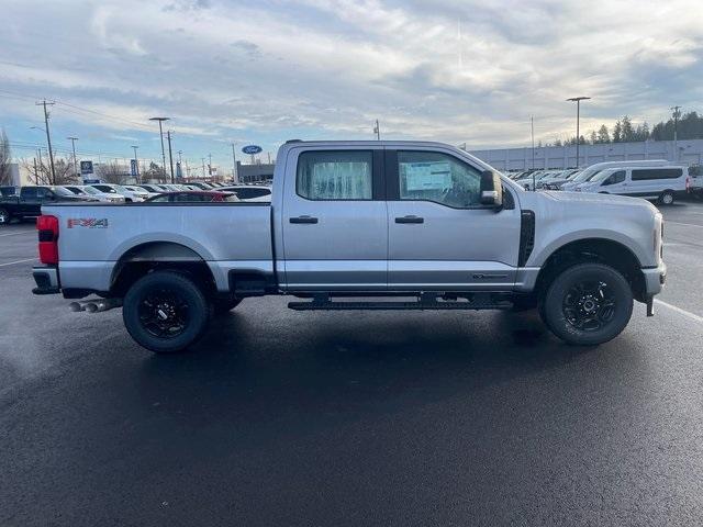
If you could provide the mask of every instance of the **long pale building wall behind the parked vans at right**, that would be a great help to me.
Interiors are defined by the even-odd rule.
[[[532,168],[532,148],[500,148],[494,150],[469,150],[479,159],[499,170],[525,170]],[[627,161],[636,159],[667,159],[683,165],[701,165],[703,161],[703,139],[646,141],[639,143],[607,143],[602,145],[580,145],[580,166],[594,162]],[[574,146],[535,147],[534,168],[576,167]]]

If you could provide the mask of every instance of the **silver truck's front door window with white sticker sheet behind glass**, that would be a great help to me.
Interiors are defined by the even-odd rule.
[[[400,199],[454,209],[481,206],[481,172],[438,152],[399,152]]]

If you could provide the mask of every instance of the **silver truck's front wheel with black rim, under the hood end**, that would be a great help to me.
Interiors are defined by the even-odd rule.
[[[633,314],[633,292],[618,271],[603,264],[579,264],[549,285],[539,313],[557,337],[577,346],[612,340]]]

